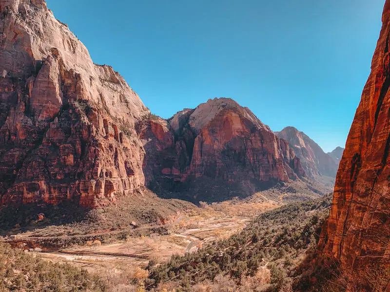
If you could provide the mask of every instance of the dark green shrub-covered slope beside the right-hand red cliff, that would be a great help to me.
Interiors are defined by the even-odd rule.
[[[230,275],[239,283],[243,276],[253,276],[269,263],[272,289],[277,291],[298,264],[292,258],[303,256],[318,242],[330,205],[329,195],[261,214],[228,239],[207,245],[194,254],[172,256],[168,263],[154,267],[150,278],[154,285],[179,281],[184,287],[188,281],[195,285],[205,279],[214,280],[218,275]]]

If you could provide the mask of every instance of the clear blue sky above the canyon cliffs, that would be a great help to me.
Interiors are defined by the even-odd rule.
[[[47,0],[92,59],[168,118],[214,97],[344,146],[385,0]]]

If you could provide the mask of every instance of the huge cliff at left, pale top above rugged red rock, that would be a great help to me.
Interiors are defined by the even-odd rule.
[[[136,123],[149,114],[43,0],[0,0],[2,203],[100,206],[144,187]]]

